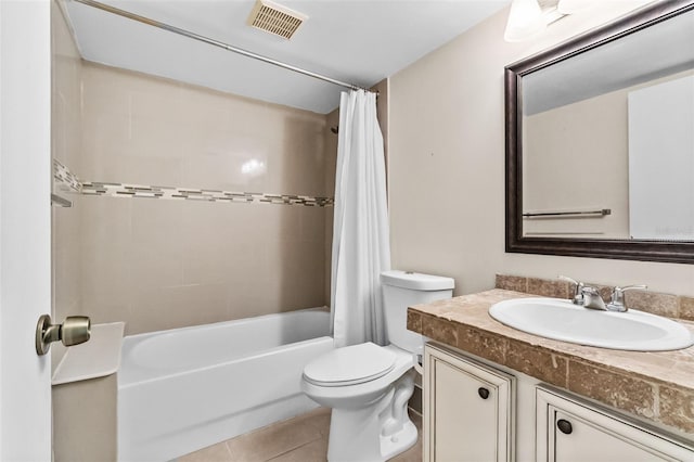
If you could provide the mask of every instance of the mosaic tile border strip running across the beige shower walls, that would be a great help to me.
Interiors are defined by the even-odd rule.
[[[330,207],[332,197],[313,197],[307,195],[269,194],[252,192],[233,192],[174,187],[150,187],[141,184],[107,183],[97,181],[80,182],[67,167],[53,161],[53,178],[74,192],[83,195],[104,195],[110,197],[141,197],[205,202],[243,202],[280,205],[304,205],[307,207]]]

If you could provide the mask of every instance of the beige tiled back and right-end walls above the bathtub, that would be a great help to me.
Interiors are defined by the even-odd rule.
[[[77,174],[103,194],[79,211],[94,322],[133,334],[326,305],[326,208],[209,201],[327,197],[325,116],[93,63],[81,103]],[[208,197],[123,200],[104,183]]]

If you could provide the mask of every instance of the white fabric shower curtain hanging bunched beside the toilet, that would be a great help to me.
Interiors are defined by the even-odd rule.
[[[343,92],[335,179],[331,315],[335,345],[387,343],[380,275],[390,269],[376,95]]]

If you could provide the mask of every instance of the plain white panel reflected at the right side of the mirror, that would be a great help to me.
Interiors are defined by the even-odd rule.
[[[693,128],[694,76],[629,93],[629,223],[635,239],[694,238]]]

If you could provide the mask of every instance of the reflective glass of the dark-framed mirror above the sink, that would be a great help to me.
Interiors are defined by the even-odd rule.
[[[694,11],[523,75],[522,235],[694,241]]]

